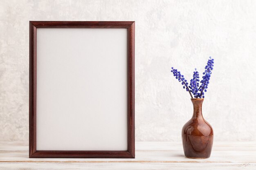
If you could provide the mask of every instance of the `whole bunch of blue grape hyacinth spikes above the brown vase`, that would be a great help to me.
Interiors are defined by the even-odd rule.
[[[205,71],[203,73],[203,77],[201,81],[199,80],[199,73],[195,68],[195,71],[193,73],[193,78],[190,80],[190,84],[184,78],[184,75],[182,75],[180,71],[177,71],[177,69],[174,69],[172,67],[171,72],[173,73],[174,77],[178,79],[179,82],[182,82],[181,84],[183,85],[183,88],[186,88],[186,91],[189,92],[189,95],[191,96],[192,99],[193,99],[192,94],[194,95],[195,98],[204,98],[204,93],[207,92],[207,88],[209,85],[211,71],[213,70],[213,63],[214,63],[213,61],[214,59],[210,57],[210,59],[207,62],[207,65],[204,68]],[[200,86],[199,86],[199,82],[201,83]]]

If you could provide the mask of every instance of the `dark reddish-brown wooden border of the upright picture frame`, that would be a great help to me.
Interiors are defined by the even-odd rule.
[[[128,150],[72,151],[36,150],[36,29],[126,28],[128,29]],[[29,158],[135,158],[135,22],[29,21]]]

